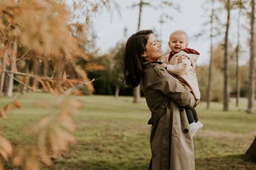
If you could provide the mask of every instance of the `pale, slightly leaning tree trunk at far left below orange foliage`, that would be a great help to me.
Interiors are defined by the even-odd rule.
[[[11,54],[11,68],[10,68],[11,72],[14,72],[14,68],[15,68],[15,65],[16,65],[17,48],[18,48],[18,38],[15,38],[15,40],[13,42],[13,54]],[[8,83],[8,88],[7,88],[6,95],[8,97],[11,97],[12,93],[13,93],[13,77],[14,77],[14,74],[13,73],[8,73],[8,75],[9,75],[9,83]]]

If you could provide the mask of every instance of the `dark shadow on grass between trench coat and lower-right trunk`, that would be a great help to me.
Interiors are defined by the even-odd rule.
[[[195,170],[256,170],[256,163],[246,162],[243,155],[195,159]]]

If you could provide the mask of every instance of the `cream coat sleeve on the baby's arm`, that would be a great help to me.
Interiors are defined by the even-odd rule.
[[[167,65],[166,70],[174,75],[184,75],[190,69],[193,69],[189,58],[183,58],[181,63],[175,65]]]

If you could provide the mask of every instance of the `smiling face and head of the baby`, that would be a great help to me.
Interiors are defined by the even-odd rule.
[[[176,54],[177,52],[187,48],[187,36],[183,33],[173,34],[170,36],[168,45],[170,50],[172,50],[172,53]]]

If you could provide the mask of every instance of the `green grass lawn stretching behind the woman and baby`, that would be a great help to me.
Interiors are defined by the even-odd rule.
[[[81,96],[84,101],[81,112],[74,116],[77,144],[69,153],[55,159],[55,165],[44,167],[49,170],[144,170],[150,162],[150,112],[145,99],[132,103],[131,97]],[[3,136],[13,145],[26,140],[24,131],[48,110],[35,102],[54,102],[49,94],[28,93],[19,95],[20,110],[13,110],[9,119],[0,119]],[[11,99],[0,97],[3,105]],[[222,112],[222,103],[205,103],[197,107],[201,129],[194,137],[196,170],[256,169],[255,163],[243,161],[256,136],[256,114],[246,114],[246,100],[241,107],[230,102],[230,111]],[[11,163],[6,164],[11,167]]]

